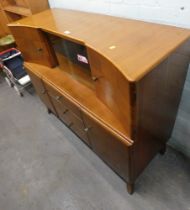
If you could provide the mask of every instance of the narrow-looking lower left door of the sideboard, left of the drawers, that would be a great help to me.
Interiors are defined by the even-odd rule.
[[[47,95],[47,91],[44,87],[43,81],[41,78],[35,74],[34,72],[30,71],[29,69],[26,68],[27,73],[29,74],[32,84],[34,85],[34,88],[42,100],[42,102],[47,106],[48,109],[50,109],[55,115],[57,115],[53,104],[50,101],[49,96]]]

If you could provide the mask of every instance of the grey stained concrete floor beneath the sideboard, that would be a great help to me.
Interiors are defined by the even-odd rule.
[[[0,210],[190,210],[190,162],[168,148],[124,181],[53,115],[0,81]]]

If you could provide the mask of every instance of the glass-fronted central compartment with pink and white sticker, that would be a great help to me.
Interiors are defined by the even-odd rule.
[[[55,35],[46,34],[46,36],[53,48],[59,68],[94,89],[86,46]]]

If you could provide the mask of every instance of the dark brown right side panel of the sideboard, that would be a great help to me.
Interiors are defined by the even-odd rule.
[[[137,83],[135,176],[171,136],[189,65],[186,44]]]

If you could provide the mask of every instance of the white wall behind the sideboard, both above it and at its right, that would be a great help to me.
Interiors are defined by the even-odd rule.
[[[190,0],[49,0],[51,7],[190,28]],[[190,70],[169,144],[190,157]]]

